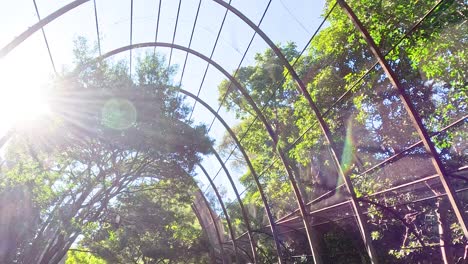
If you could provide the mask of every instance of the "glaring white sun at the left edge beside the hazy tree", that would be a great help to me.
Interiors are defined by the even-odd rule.
[[[48,75],[28,74],[15,66],[0,61],[0,135],[29,127],[50,111],[44,85]]]

